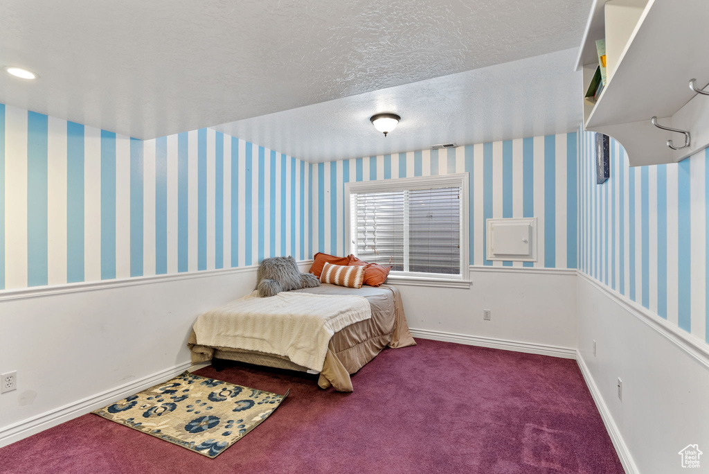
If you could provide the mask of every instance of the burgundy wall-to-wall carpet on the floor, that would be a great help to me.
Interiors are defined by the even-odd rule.
[[[216,459],[93,414],[0,449],[2,473],[623,473],[574,360],[418,340],[352,377],[200,375],[291,395]],[[10,468],[9,468],[10,466]]]

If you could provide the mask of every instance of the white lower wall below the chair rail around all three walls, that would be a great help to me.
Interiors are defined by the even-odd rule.
[[[300,265],[306,271],[310,263]],[[576,355],[628,473],[681,472],[681,448],[706,449],[703,341],[576,270],[470,270],[469,289],[400,287],[415,337]],[[189,368],[196,315],[250,292],[255,277],[250,267],[0,294],[3,332],[12,335],[0,346],[0,369],[18,370],[19,385],[0,397],[0,446]],[[483,309],[492,310],[491,321]]]

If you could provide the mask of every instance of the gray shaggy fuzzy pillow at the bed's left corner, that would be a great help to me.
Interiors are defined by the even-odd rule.
[[[272,297],[279,292],[320,286],[315,275],[301,274],[296,259],[289,257],[264,258],[259,265],[256,287],[259,297]]]

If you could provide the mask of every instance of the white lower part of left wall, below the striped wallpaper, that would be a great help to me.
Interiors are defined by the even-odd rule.
[[[301,271],[311,261],[299,263]],[[91,412],[191,366],[196,316],[251,292],[256,266],[0,293],[0,446]]]

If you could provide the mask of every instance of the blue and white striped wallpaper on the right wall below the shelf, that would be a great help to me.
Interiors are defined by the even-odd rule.
[[[596,184],[594,136],[579,140],[579,269],[709,342],[709,150],[629,167],[611,138]]]

